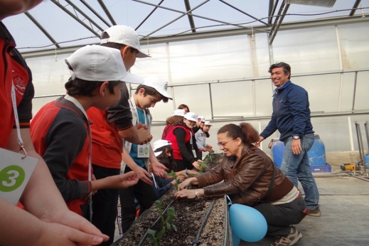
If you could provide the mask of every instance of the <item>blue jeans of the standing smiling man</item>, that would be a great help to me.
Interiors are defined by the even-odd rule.
[[[297,181],[300,181],[305,192],[306,207],[307,209],[313,210],[319,207],[319,191],[310,171],[307,152],[314,143],[314,134],[305,134],[301,138],[302,151],[300,154],[292,153],[292,140],[292,137],[284,140],[285,148],[280,169],[296,187],[298,185]]]

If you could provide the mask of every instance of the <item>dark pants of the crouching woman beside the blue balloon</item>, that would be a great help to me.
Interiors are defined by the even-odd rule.
[[[291,231],[291,224],[298,224],[305,217],[304,198],[298,198],[289,203],[272,205],[260,203],[253,208],[264,215],[268,223],[267,236],[287,236]]]

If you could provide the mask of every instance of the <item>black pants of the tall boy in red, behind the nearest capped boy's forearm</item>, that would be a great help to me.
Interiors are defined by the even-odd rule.
[[[120,174],[120,169],[92,165],[97,180]],[[100,189],[92,196],[92,224],[110,238],[102,246],[114,241],[115,221],[117,219],[118,189]]]

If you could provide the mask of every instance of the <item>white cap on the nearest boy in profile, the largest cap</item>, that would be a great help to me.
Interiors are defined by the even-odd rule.
[[[144,80],[125,70],[121,52],[100,45],[86,45],[76,50],[64,62],[72,70],[72,79],[87,81],[124,81],[142,84]]]

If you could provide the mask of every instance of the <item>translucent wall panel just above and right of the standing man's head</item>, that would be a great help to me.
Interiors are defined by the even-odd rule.
[[[338,44],[333,26],[278,31],[273,41],[275,62],[291,65],[291,74],[339,69]]]

